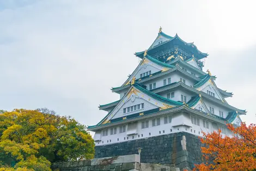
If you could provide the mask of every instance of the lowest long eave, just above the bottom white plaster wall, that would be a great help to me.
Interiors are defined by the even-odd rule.
[[[147,113],[147,114],[143,114],[143,115],[138,115],[137,117],[134,117],[134,118],[127,118],[127,117],[126,117],[127,119],[120,118],[119,121],[116,121],[115,123],[110,122],[110,123],[103,124],[103,125],[88,126],[88,130],[89,131],[101,130],[101,129],[105,129],[106,127],[109,127],[109,126],[115,126],[115,125],[119,125],[119,124],[126,124],[126,123],[130,123],[130,122],[133,122],[133,121],[138,121],[138,120],[142,120],[142,119],[156,117],[156,116],[167,114],[167,113],[175,113],[175,112],[179,112],[179,111],[186,111],[188,113],[197,114],[200,117],[204,117],[206,119],[211,119],[212,121],[215,121],[216,123],[220,123],[220,124],[225,125],[225,120],[222,120],[218,117],[213,117],[211,115],[208,115],[205,112],[198,111],[197,109],[192,109],[190,107],[187,107],[186,105],[182,105],[182,106],[179,106],[179,107],[168,108],[168,109],[161,110],[161,111],[159,111],[159,108],[157,108],[157,109],[158,110],[156,112],[151,112],[151,113]],[[145,112],[147,112],[147,111],[145,111]]]

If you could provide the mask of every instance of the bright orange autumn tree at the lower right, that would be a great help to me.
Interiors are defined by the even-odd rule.
[[[256,170],[256,125],[240,127],[228,124],[232,137],[221,135],[221,130],[203,132],[200,138],[204,163],[196,164],[193,170]]]

